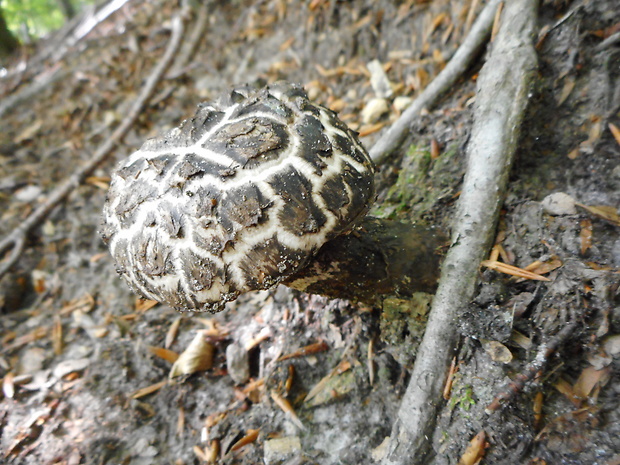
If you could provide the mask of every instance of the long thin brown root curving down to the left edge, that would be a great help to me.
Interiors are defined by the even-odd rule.
[[[42,205],[37,207],[34,212],[32,212],[19,226],[11,231],[11,233],[9,233],[8,236],[0,242],[0,254],[6,253],[8,250],[12,249],[8,258],[0,264],[0,278],[2,278],[2,276],[4,276],[19,259],[26,243],[26,237],[30,231],[38,226],[57,205],[62,203],[87,176],[89,176],[103,161],[105,161],[105,159],[112,153],[112,150],[116,147],[116,145],[121,141],[125,134],[127,134],[129,129],[131,129],[135,121],[140,116],[140,113],[142,112],[142,109],[146,105],[148,99],[152,96],[155,86],[163,76],[166,69],[168,69],[168,66],[176,55],[176,52],[181,44],[182,37],[183,21],[180,16],[176,16],[172,20],[172,36],[170,38],[170,42],[168,43],[166,52],[159,63],[157,63],[155,68],[151,71],[149,77],[144,83],[144,86],[142,87],[140,95],[136,98],[132,107],[129,109],[127,117],[122,121],[120,126],[118,126],[106,142],[99,147],[86,165],[77,169],[63,184],[53,190]]]

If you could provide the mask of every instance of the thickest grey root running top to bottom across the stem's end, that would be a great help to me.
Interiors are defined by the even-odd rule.
[[[467,171],[453,225],[453,242],[442,266],[411,381],[392,429],[383,465],[418,464],[430,448],[442,388],[457,340],[458,312],[475,292],[480,262],[495,237],[536,70],[532,34],[536,0],[506,4],[500,31],[477,83]],[[491,11],[491,18],[493,17]]]

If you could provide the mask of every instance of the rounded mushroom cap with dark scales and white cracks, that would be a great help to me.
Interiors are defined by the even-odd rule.
[[[218,311],[350,230],[373,174],[356,134],[301,87],[238,88],[121,163],[102,236],[144,297]]]

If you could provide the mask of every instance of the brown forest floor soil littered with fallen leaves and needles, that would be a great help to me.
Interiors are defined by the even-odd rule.
[[[279,287],[218,314],[179,314],[119,279],[98,234],[105,191],[118,161],[233,84],[301,83],[371,147],[481,8],[210,2],[191,60],[173,65],[113,157],[41,222],[0,281],[0,462],[379,462],[431,295],[372,308]],[[110,137],[176,13],[176,2],[130,1],[63,53],[36,62],[42,42],[29,66],[5,65],[0,108],[61,78],[1,117],[0,237]],[[485,464],[620,464],[620,11],[615,0],[548,1],[538,27],[538,76],[494,250],[549,280],[481,269],[476,298],[460,311],[456,371],[428,463],[456,464],[484,431]],[[373,60],[392,84],[389,105],[363,121],[377,105]],[[450,228],[483,62],[378,167],[371,213]],[[543,202],[554,193],[567,201]],[[565,328],[568,337],[554,339]],[[190,343],[197,363],[177,363],[185,374],[170,379]],[[558,348],[547,364],[485,412],[550,343]]]

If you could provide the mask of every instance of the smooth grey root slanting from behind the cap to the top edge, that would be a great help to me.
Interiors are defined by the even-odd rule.
[[[400,147],[407,137],[411,124],[418,117],[420,111],[431,107],[467,70],[491,33],[495,10],[499,2],[500,0],[489,1],[446,67],[441,70],[437,77],[433,79],[428,87],[422,91],[409,108],[405,110],[400,118],[390,126],[390,129],[370,149],[370,157],[375,163],[383,162],[392,152]]]

